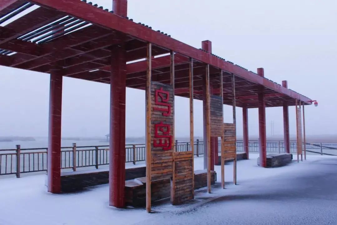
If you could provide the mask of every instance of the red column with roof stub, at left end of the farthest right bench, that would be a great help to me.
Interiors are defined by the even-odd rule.
[[[257,74],[261,77],[264,77],[264,69],[258,68]],[[258,130],[260,166],[267,167],[266,105],[264,87],[261,87],[261,90],[258,93]]]

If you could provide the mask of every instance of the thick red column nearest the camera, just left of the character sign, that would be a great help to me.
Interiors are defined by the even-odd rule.
[[[116,45],[111,54],[109,204],[125,207],[126,51]]]

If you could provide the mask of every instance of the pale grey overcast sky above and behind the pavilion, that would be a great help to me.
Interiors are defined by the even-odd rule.
[[[112,8],[112,0],[93,1]],[[307,135],[337,134],[337,1],[128,0],[128,16],[196,48],[211,40],[213,53],[318,101],[305,108]],[[110,86],[64,78],[62,136],[109,133]],[[0,136],[47,136],[49,75],[0,66]],[[176,97],[176,136],[189,135],[188,99]],[[231,107],[224,108],[232,121]],[[289,107],[290,135],[296,132]],[[249,134],[258,134],[256,109],[249,109]],[[282,108],[267,108],[267,135],[283,134]],[[237,108],[242,135],[242,110]],[[202,136],[202,102],[194,101],[195,136]],[[145,92],[127,89],[126,135],[145,135]]]

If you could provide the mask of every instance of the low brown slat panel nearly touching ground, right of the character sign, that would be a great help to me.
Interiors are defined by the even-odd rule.
[[[175,152],[175,183],[173,204],[193,199],[193,153]]]

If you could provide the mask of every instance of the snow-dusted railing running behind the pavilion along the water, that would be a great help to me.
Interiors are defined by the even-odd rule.
[[[194,155],[196,157],[204,154],[204,143],[195,141]],[[175,141],[177,151],[188,151],[189,142]],[[238,140],[236,143],[237,151],[243,151],[243,142]],[[47,171],[47,150],[48,148],[21,148],[20,145],[14,149],[0,149],[0,175],[16,174],[20,177],[21,173]],[[296,153],[296,142],[290,142],[290,152]],[[337,155],[337,144],[333,143],[314,143],[306,144],[307,152]],[[218,152],[221,150],[218,143]],[[128,144],[125,146],[125,162],[133,163],[145,161],[145,144]],[[258,141],[249,141],[249,151],[258,152]],[[284,152],[283,141],[267,141],[267,152]],[[99,146],[76,146],[61,148],[61,169],[72,169],[81,167],[95,167],[109,164],[109,145]]]

